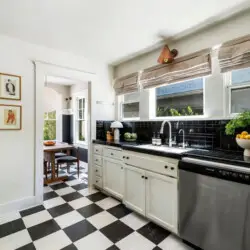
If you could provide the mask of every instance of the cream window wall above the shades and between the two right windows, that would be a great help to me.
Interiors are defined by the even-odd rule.
[[[249,23],[250,11],[183,39],[176,40],[170,43],[169,47],[170,49],[176,48],[179,52],[178,56],[188,55],[205,48],[212,48],[231,39],[248,35],[250,33]],[[156,65],[161,49],[117,65],[114,68],[114,77],[122,77]],[[227,114],[223,75],[220,73],[216,52],[212,55],[212,67],[212,76],[206,79],[204,86],[204,113],[206,118],[225,118]],[[146,117],[147,115],[144,114],[143,119],[145,120]]]

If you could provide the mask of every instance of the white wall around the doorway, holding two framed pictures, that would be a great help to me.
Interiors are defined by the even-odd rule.
[[[34,204],[35,189],[35,72],[32,60],[92,72],[97,82],[92,87],[92,138],[96,119],[114,119],[114,107],[102,109],[98,100],[114,101],[110,70],[101,62],[91,62],[66,52],[48,49],[0,35],[0,72],[22,76],[22,100],[0,103],[21,104],[21,131],[0,131],[0,214]],[[105,94],[107,93],[107,94]],[[42,93],[41,93],[42,94]],[[41,141],[42,143],[42,141]]]

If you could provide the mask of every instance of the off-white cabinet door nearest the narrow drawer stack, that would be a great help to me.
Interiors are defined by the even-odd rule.
[[[110,158],[103,158],[103,189],[119,199],[123,197],[123,164]]]

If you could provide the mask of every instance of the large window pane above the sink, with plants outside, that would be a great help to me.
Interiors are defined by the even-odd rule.
[[[203,78],[155,89],[156,116],[203,115]]]

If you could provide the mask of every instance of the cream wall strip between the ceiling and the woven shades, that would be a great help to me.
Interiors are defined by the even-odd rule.
[[[188,37],[176,40],[170,43],[169,47],[170,49],[176,48],[178,50],[178,57],[188,55],[195,51],[211,48],[231,39],[248,35],[250,33],[249,23],[250,11]],[[114,68],[115,78],[156,65],[161,49],[159,48],[117,65]]]

